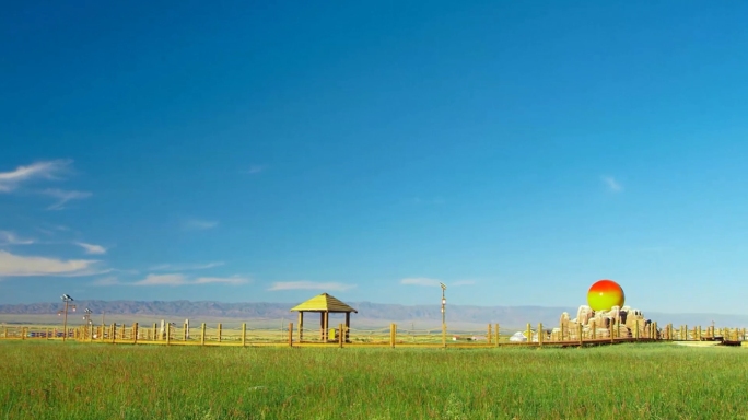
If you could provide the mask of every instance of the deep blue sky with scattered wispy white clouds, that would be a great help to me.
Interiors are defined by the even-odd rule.
[[[748,314],[748,4],[324,3],[9,4],[0,303]]]

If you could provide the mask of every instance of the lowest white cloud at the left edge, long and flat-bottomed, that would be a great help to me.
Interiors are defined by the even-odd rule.
[[[0,277],[92,276],[103,272],[94,269],[96,262],[93,259],[23,257],[0,250]]]

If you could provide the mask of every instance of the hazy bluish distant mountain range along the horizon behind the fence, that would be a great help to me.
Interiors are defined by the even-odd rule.
[[[291,303],[224,303],[224,302],[191,302],[191,301],[77,301],[79,313],[89,307],[94,316],[105,313],[112,315],[138,315],[200,319],[234,318],[234,319],[290,319],[295,314],[289,310]],[[418,324],[420,328],[437,327],[441,324],[441,307],[439,305],[398,305],[371,302],[349,302],[359,311],[352,315],[358,325],[386,326],[389,323],[405,325]],[[62,308],[61,303],[31,303],[15,305],[0,305],[0,314],[31,315],[57,314]],[[489,323],[499,323],[511,328],[524,327],[528,322],[536,326],[542,323],[552,327],[559,323],[563,312],[571,317],[576,316],[576,307],[544,307],[544,306],[470,306],[448,305],[447,320],[451,326],[477,327]],[[674,325],[711,325],[718,327],[748,327],[748,315],[727,314],[665,314],[644,311],[646,318],[656,320],[661,326],[667,323]],[[8,318],[8,316],[5,316]]]

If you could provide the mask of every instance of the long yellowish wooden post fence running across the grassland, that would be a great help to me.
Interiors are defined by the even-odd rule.
[[[293,323],[282,329],[224,329],[222,324],[208,327],[175,327],[166,324],[162,330],[157,324],[132,325],[112,324],[109,326],[81,326],[68,328],[66,335],[61,328],[34,326],[4,326],[0,329],[0,339],[13,340],[74,340],[79,342],[129,343],[129,345],[164,345],[164,346],[289,346],[289,347],[443,347],[443,348],[487,348],[502,346],[592,346],[632,341],[722,341],[739,345],[746,340],[746,328],[715,328],[686,325],[674,327],[671,324],[658,328],[656,323],[636,325],[633,329],[612,325],[608,328],[557,327],[545,329],[538,324],[533,329],[527,324],[522,331],[522,341],[513,342],[511,337],[502,335],[499,324],[488,324],[486,330],[416,330],[398,328],[390,324],[389,328],[365,330],[346,328],[343,324],[332,328],[328,335],[314,335],[305,331],[304,340],[299,341],[299,332]]]

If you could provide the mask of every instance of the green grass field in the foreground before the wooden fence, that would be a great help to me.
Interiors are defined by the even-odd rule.
[[[748,351],[0,341],[0,419],[748,418]]]

